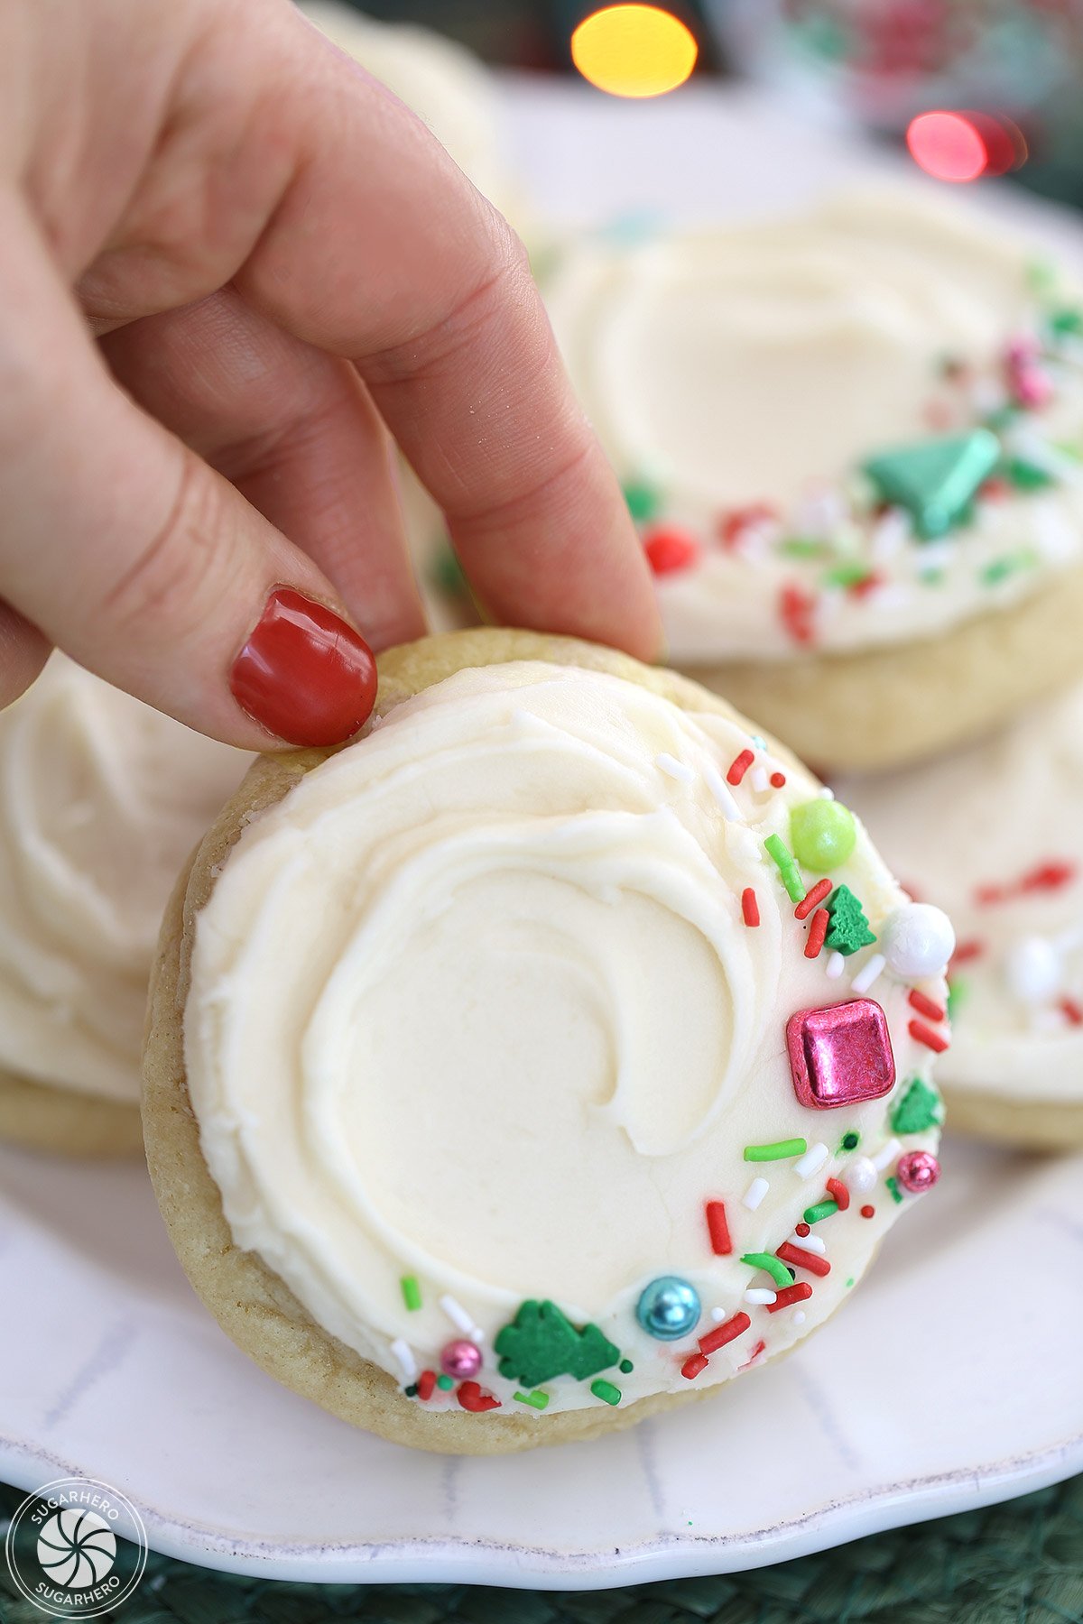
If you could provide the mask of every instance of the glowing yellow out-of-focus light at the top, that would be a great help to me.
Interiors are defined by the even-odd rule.
[[[656,5],[611,5],[572,36],[572,60],[611,96],[664,96],[688,78],[700,54],[695,34]]]

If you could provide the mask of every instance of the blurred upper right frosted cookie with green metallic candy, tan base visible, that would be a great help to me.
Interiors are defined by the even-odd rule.
[[[546,287],[669,658],[891,765],[1083,671],[1083,294],[908,190],[572,247]]]

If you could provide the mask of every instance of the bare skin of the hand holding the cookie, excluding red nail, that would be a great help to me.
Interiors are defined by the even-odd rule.
[[[521,244],[287,0],[5,0],[0,240],[0,703],[55,643],[266,747],[273,586],[424,630],[391,442],[494,619],[656,658]]]

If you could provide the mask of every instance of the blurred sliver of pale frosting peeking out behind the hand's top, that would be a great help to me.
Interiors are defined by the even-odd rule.
[[[424,119],[479,192],[497,206],[507,200],[497,94],[472,52],[434,29],[378,23],[336,0],[305,0],[300,10]]]

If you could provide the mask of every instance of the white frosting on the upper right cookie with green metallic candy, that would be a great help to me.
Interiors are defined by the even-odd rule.
[[[1005,398],[1005,348],[1038,318],[1033,258],[901,188],[565,253],[546,297],[594,427],[625,481],[658,487],[653,523],[701,549],[658,580],[677,663],[799,651],[779,615],[787,586],[815,599],[813,646],[857,650],[937,635],[1083,554],[1078,468],[1051,450],[1083,450],[1075,346],[1047,369],[1054,401],[1007,437],[1055,464],[1051,490],[981,500],[976,523],[921,544],[901,512],[878,523],[854,482],[874,453],[969,430]],[[964,382],[940,375],[945,356],[971,369]],[[755,503],[778,521],[724,546],[719,521]],[[792,541],[820,546],[800,557],[781,546]],[[874,588],[848,591],[839,565],[875,573]]]

